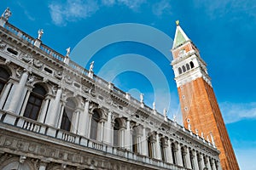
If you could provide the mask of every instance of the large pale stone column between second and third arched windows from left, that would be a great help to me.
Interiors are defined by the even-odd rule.
[[[57,127],[57,118],[59,116],[61,94],[62,94],[62,89],[58,88],[56,92],[55,100],[51,105],[49,114],[46,117],[46,123],[53,127]]]

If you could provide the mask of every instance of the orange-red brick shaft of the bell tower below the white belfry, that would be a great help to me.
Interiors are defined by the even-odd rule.
[[[188,119],[191,130],[198,130],[199,135],[211,139],[220,150],[221,166],[224,170],[239,169],[230,138],[224,125],[218,102],[207,82],[198,78],[178,88],[179,99],[183,112],[183,123],[188,128]]]

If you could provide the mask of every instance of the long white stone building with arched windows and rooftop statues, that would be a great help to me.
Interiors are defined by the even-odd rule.
[[[0,169],[221,169],[212,142],[0,20]],[[143,96],[142,96],[143,98]]]

